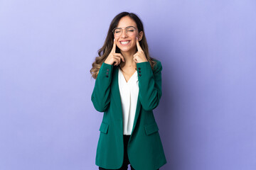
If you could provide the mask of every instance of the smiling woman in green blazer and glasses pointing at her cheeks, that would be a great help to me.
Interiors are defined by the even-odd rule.
[[[166,164],[153,109],[161,98],[161,62],[149,57],[142,21],[114,17],[90,70],[91,100],[104,112],[97,144],[99,169],[156,170]]]

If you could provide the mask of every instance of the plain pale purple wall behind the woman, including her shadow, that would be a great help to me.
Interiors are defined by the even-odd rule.
[[[0,1],[0,169],[97,169],[89,71],[122,11],[163,65],[161,169],[256,169],[253,0]]]

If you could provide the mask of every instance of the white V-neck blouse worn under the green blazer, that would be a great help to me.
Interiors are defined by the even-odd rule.
[[[132,74],[132,77],[127,82],[124,74],[122,74],[122,70],[119,68],[118,84],[122,103],[123,132],[124,135],[131,135],[139,94],[137,71]]]

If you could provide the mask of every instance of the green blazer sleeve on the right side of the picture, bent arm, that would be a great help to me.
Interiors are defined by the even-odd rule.
[[[139,80],[139,100],[145,111],[151,111],[159,105],[161,98],[161,62],[157,60],[154,71],[149,62],[137,63]]]

